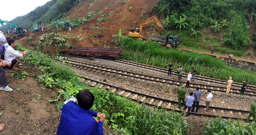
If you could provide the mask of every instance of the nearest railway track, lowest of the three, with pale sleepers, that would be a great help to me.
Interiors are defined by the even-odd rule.
[[[79,75],[77,75],[77,76],[79,76]],[[180,109],[176,108],[177,104],[178,104],[177,101],[159,98],[156,95],[152,96],[152,95],[148,95],[148,94],[143,94],[140,92],[136,92],[134,90],[128,90],[125,88],[117,87],[114,85],[110,85],[110,84],[107,84],[107,83],[104,83],[101,81],[97,81],[97,80],[93,80],[93,79],[83,77],[83,76],[79,76],[79,77],[83,78],[83,81],[92,87],[99,87],[99,88],[104,88],[104,89],[108,88],[109,91],[112,91],[122,97],[129,98],[135,102],[144,103],[148,106],[157,106],[159,108],[164,108],[167,111],[176,111],[176,112],[182,113],[182,109],[180,110]],[[198,112],[204,112],[203,108],[205,108],[206,106],[200,105],[199,107],[200,107],[200,109],[198,109]],[[190,115],[206,116],[206,117],[213,117],[213,118],[215,118],[216,116],[221,116],[224,119],[231,118],[231,119],[235,119],[235,120],[237,120],[237,119],[246,120],[248,113],[249,113],[249,111],[245,111],[245,110],[210,106],[209,114],[190,112]]]

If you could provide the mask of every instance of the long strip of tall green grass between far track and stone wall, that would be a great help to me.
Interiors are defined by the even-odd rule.
[[[121,58],[129,61],[166,69],[169,62],[172,62],[174,69],[176,66],[182,66],[184,72],[189,72],[191,67],[196,67],[197,74],[202,76],[222,80],[227,80],[231,76],[235,82],[243,83],[243,80],[247,79],[248,84],[256,85],[254,72],[227,66],[219,59],[208,55],[176,49],[164,50],[155,42],[142,42],[132,38],[123,38],[120,47],[123,50]]]

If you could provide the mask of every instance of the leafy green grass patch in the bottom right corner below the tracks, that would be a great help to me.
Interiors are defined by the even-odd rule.
[[[256,135],[256,123],[243,121],[222,120],[221,117],[206,123],[203,135]]]

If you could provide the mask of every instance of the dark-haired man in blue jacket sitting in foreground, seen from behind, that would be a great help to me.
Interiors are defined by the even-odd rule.
[[[94,95],[87,89],[81,91],[76,99],[71,98],[61,109],[57,135],[103,135],[102,124],[105,114],[92,111]],[[93,116],[100,118],[96,122]]]

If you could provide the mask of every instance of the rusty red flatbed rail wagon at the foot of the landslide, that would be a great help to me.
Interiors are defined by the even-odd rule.
[[[103,58],[116,58],[121,55],[120,48],[97,48],[97,47],[78,47],[72,50],[64,50],[63,54],[78,55],[78,56],[98,56]]]

